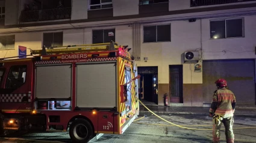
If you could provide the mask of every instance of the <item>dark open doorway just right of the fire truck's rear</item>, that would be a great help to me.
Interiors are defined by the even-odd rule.
[[[158,105],[158,67],[138,67],[139,98],[146,104]],[[150,102],[150,103],[149,103]]]

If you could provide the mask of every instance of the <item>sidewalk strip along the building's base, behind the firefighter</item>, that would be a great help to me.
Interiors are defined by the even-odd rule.
[[[152,112],[155,114],[190,114],[190,115],[208,115],[208,107],[184,107],[184,106],[155,106],[155,105],[146,105]],[[140,113],[139,114],[148,114],[149,111],[142,104],[140,104]],[[236,108],[234,115],[247,115],[247,116],[256,116],[256,107],[255,108]]]

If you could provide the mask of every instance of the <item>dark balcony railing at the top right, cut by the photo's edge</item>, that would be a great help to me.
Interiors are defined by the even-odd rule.
[[[199,7],[206,5],[230,4],[237,2],[248,2],[256,0],[190,0],[190,7]]]

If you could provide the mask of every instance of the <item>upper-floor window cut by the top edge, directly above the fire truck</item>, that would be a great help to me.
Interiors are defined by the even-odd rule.
[[[113,8],[112,0],[89,0],[89,10]]]

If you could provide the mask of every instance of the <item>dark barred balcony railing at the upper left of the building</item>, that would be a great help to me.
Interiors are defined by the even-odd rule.
[[[22,11],[20,22],[38,22],[45,20],[70,19],[71,8],[54,8],[49,10]]]

